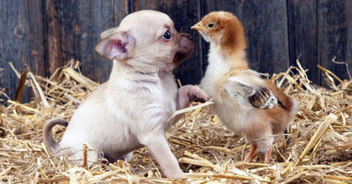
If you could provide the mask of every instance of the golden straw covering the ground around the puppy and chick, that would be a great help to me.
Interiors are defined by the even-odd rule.
[[[65,159],[59,160],[47,152],[41,136],[46,120],[69,120],[77,106],[99,85],[81,75],[78,65],[77,61],[70,61],[49,79],[27,71],[20,80],[16,98],[20,100],[26,84],[33,89],[33,101],[19,104],[8,100],[8,107],[0,107],[0,182],[352,182],[352,80],[341,80],[319,66],[331,89],[313,86],[299,62],[298,67],[290,67],[285,73],[267,75],[300,103],[297,118],[289,127],[291,143],[284,144],[284,136],[280,135],[272,164],[263,164],[261,153],[255,155],[256,162],[243,163],[249,145],[225,130],[207,106],[186,113],[167,133],[172,152],[186,172],[185,179],[161,178],[157,164],[145,149],[136,150],[129,163],[106,165],[101,161],[93,168],[67,165]],[[64,127],[55,126],[54,137],[60,140],[63,131]],[[263,170],[269,172],[264,174]]]

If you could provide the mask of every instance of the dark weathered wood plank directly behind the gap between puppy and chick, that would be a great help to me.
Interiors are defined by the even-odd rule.
[[[156,10],[167,14],[174,22],[178,32],[188,33],[193,37],[195,50],[191,58],[182,62],[175,69],[175,76],[182,84],[199,84],[204,75],[204,59],[202,55],[202,40],[196,31],[191,31],[191,26],[200,21],[200,7],[198,1],[168,1],[147,0],[135,1],[135,11]]]

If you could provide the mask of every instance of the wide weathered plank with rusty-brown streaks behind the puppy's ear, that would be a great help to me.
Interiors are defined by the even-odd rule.
[[[128,0],[48,0],[43,11],[47,25],[47,75],[74,58],[81,61],[84,75],[95,81],[106,81],[112,62],[99,57],[93,48],[99,42],[101,32],[117,27],[129,14]]]

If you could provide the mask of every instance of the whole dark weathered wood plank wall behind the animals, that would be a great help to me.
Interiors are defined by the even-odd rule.
[[[38,75],[50,76],[74,58],[83,74],[104,82],[111,61],[100,58],[93,47],[99,34],[117,27],[138,10],[168,14],[180,32],[190,33],[196,44],[192,57],[175,70],[183,84],[198,84],[207,65],[209,45],[190,27],[211,11],[230,11],[242,21],[248,40],[251,68],[264,73],[285,71],[300,56],[309,78],[323,83],[317,64],[340,78],[352,70],[352,1],[349,0],[12,0],[0,1],[0,86],[14,98],[18,77],[8,62],[21,72],[26,65]],[[22,102],[28,102],[26,89]]]

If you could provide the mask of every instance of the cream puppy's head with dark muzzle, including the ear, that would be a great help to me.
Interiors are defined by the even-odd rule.
[[[194,47],[190,35],[178,33],[172,20],[156,11],[130,14],[118,28],[100,36],[95,47],[100,56],[143,70],[172,70],[191,56]]]

